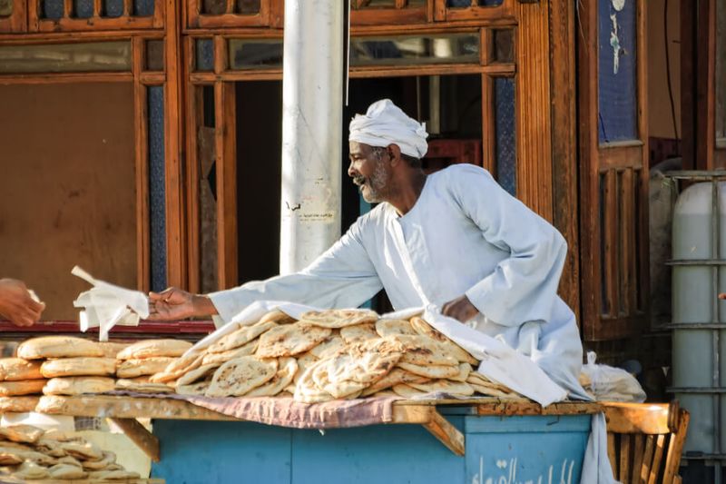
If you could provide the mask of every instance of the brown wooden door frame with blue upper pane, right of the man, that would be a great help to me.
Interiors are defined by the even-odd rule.
[[[649,293],[648,260],[648,120],[647,120],[647,46],[646,23],[643,0],[636,5],[637,35],[637,99],[638,140],[625,143],[601,144],[598,135],[598,16],[599,0],[583,1],[579,7],[578,23],[578,105],[579,105],[579,158],[580,158],[580,241],[581,241],[581,301],[582,327],[584,340],[601,341],[621,339],[643,330],[642,319],[647,320],[647,294]],[[605,252],[605,263],[617,263],[616,255],[610,246],[602,247],[603,233],[600,226],[600,176],[602,167],[617,168],[626,160],[640,159],[636,166],[640,170],[641,206],[638,221],[633,225],[640,228],[640,251],[630,254],[639,262],[640,278],[632,283],[639,285],[643,305],[643,318],[621,318],[617,315],[603,315],[602,278],[604,268],[600,254]],[[609,180],[607,181],[610,182]],[[614,187],[610,187],[611,189]],[[609,185],[608,185],[609,186]],[[607,233],[622,232],[623,226],[615,225],[614,217],[605,222]],[[620,274],[615,268],[615,274]],[[613,277],[613,279],[616,279]],[[607,281],[605,297],[615,301],[619,291],[619,281]]]

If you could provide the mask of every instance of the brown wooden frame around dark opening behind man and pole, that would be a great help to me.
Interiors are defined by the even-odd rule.
[[[506,1],[506,0],[505,0]],[[552,133],[549,128],[550,117],[550,83],[549,76],[543,76],[540,66],[549,66],[548,36],[548,10],[547,5],[515,4],[513,1],[505,6],[515,7],[512,17],[497,18],[492,21],[478,21],[474,25],[410,25],[405,30],[398,26],[396,29],[388,25],[354,26],[351,31],[354,36],[380,36],[380,35],[433,35],[451,34],[461,32],[478,32],[480,35],[480,62],[479,64],[429,64],[417,66],[365,66],[350,69],[351,78],[374,78],[411,75],[446,75],[446,74],[479,74],[482,77],[482,119],[485,125],[491,127],[491,133],[482,133],[483,162],[491,170],[494,162],[493,131],[493,95],[491,93],[492,79],[496,76],[515,77],[515,107],[517,133],[529,130],[532,134],[525,140],[524,136],[517,135],[517,186],[522,191],[518,196],[539,212],[548,221],[553,220],[552,196]],[[501,11],[501,10],[500,10]],[[508,11],[507,11],[508,12]],[[517,22],[516,18],[519,19]],[[495,63],[490,59],[491,27],[511,27],[515,30],[515,62],[511,64]],[[525,26],[525,28],[523,28]],[[212,37],[214,43],[214,70],[212,72],[194,72],[194,48],[199,38]],[[187,213],[189,221],[189,241],[187,258],[189,261],[189,289],[198,291],[200,288],[199,270],[199,199],[196,193],[199,183],[197,173],[197,141],[193,133],[201,124],[200,102],[195,90],[200,85],[214,85],[215,89],[215,120],[216,120],[216,161],[217,165],[217,228],[218,228],[218,284],[219,289],[238,285],[237,281],[237,225],[236,225],[236,179],[230,173],[236,170],[236,140],[234,139],[233,112],[233,83],[238,81],[281,80],[281,68],[236,70],[229,69],[227,56],[230,38],[278,38],[282,33],[276,29],[251,30],[222,30],[208,29],[186,35],[184,38],[184,53],[187,69],[186,99],[190,110],[187,117],[186,132],[190,133],[186,140],[187,160],[186,173],[188,173]],[[534,45],[526,49],[522,45]],[[521,51],[521,52],[520,52]],[[538,51],[538,52],[535,52]],[[521,59],[526,56],[535,56],[538,61],[529,67],[521,65]],[[537,109],[531,109],[532,104],[522,103],[521,100],[531,99],[535,94]],[[220,117],[221,110],[226,113]],[[486,120],[492,119],[491,122]],[[226,123],[226,125],[225,125]],[[486,130],[485,130],[486,131]],[[530,141],[531,140],[531,141]],[[222,175],[221,173],[228,173]],[[226,201],[226,202],[225,202]],[[231,212],[230,212],[231,210]]]

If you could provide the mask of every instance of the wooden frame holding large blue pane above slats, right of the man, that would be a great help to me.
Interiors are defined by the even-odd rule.
[[[647,327],[649,294],[648,246],[648,119],[647,119],[647,35],[643,0],[636,5],[637,32],[637,106],[638,139],[620,143],[600,143],[598,135],[598,0],[584,2],[580,7],[582,37],[578,47],[579,106],[580,106],[580,238],[582,273],[583,333],[586,341],[608,341],[639,334]],[[633,163],[633,160],[637,162]],[[629,170],[638,173],[633,176]],[[616,173],[614,176],[610,173]],[[635,198],[639,196],[639,219],[621,219],[618,209],[609,207],[601,230],[600,183],[604,176],[606,200],[617,193],[617,173],[623,173],[624,183],[632,181],[637,193],[620,193],[623,212],[633,215]],[[632,178],[628,178],[632,177]],[[632,209],[628,211],[628,206]],[[636,232],[637,237],[636,238]],[[617,237],[616,237],[617,236]],[[638,247],[637,242],[640,241]],[[604,243],[603,243],[604,242]],[[604,244],[604,247],[603,247]],[[621,245],[618,245],[621,244]],[[623,247],[622,259],[617,247]],[[608,266],[611,277],[603,273]],[[624,262],[623,262],[624,261]],[[629,268],[636,268],[633,273]],[[639,274],[639,277],[636,277]],[[632,293],[637,284],[640,301]],[[624,293],[624,296],[623,296]],[[603,295],[609,301],[605,311]],[[624,313],[620,311],[621,302]]]

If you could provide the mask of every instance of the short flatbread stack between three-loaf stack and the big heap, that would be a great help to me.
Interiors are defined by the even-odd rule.
[[[149,381],[149,377],[177,361],[191,343],[182,340],[143,340],[127,346],[116,354],[116,390],[142,393],[173,391],[168,385]]]

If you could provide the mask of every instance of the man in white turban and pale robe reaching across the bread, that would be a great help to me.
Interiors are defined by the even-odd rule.
[[[434,304],[586,398],[574,313],[557,296],[563,236],[482,168],[456,164],[426,175],[426,137],[388,99],[372,104],[350,123],[348,175],[378,206],[304,270],[208,296],[152,293],[152,319],[230,321],[259,300],[355,308],[385,289],[395,309]]]

